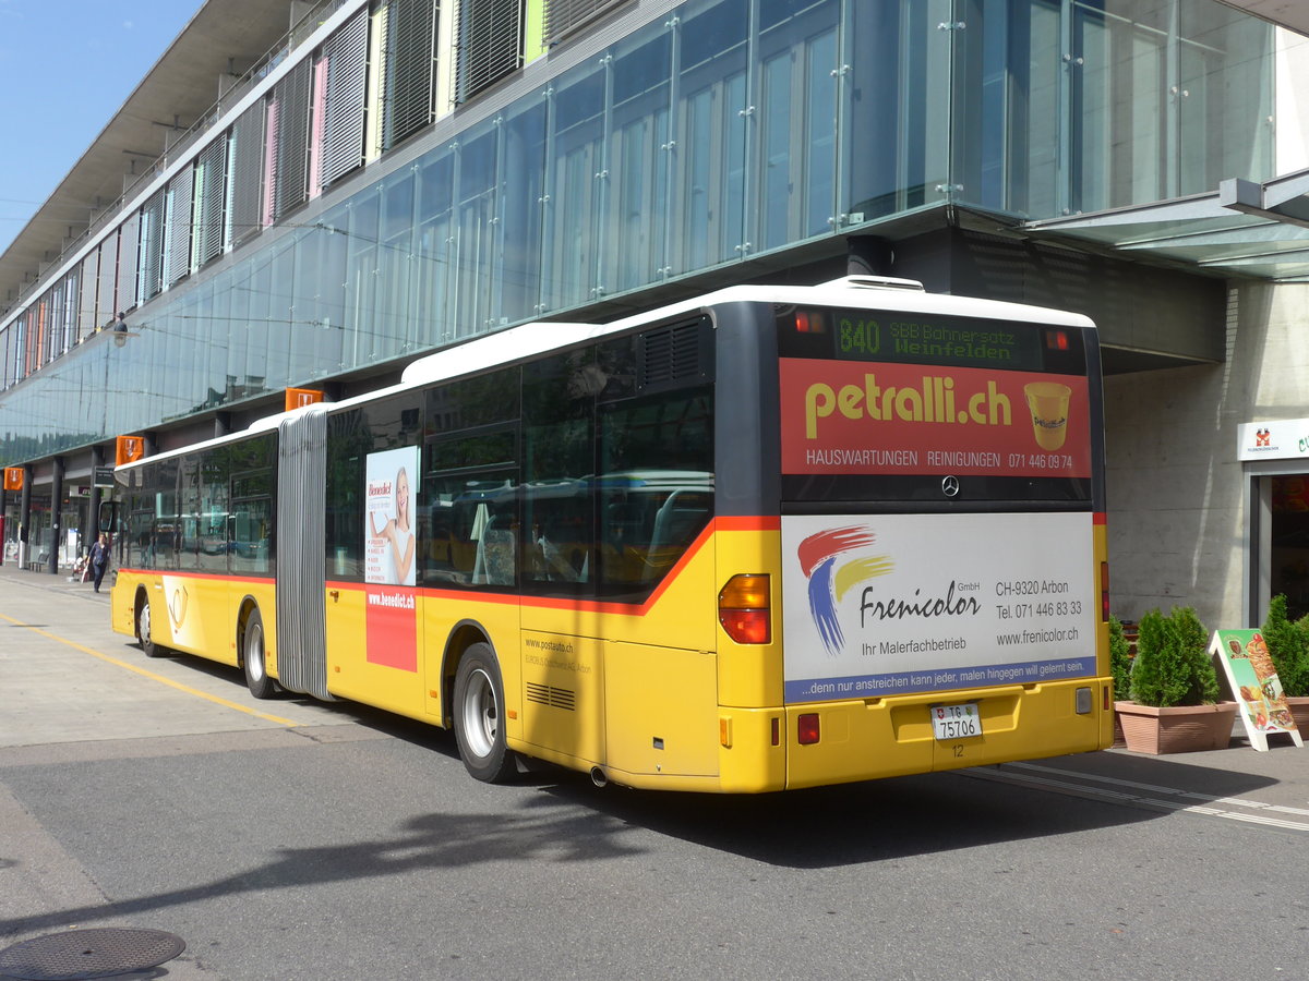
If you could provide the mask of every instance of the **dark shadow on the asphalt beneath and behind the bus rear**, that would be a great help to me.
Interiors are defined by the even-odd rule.
[[[1051,781],[1035,770],[1039,781],[1051,781],[1041,783],[1005,764],[749,797],[598,790],[583,780],[559,782],[551,793],[704,848],[783,867],[825,869],[1128,827],[1278,782],[1147,763],[1160,785],[1155,790]]]

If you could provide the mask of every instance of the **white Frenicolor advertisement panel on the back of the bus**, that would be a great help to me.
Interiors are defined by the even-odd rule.
[[[1090,514],[781,519],[785,700],[1096,674]]]

